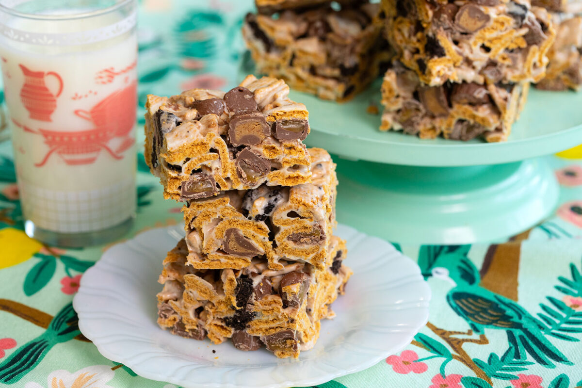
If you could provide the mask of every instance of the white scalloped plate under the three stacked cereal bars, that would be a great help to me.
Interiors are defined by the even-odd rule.
[[[354,275],[299,359],[173,336],[156,323],[157,278],[178,226],[115,245],[88,269],[74,297],[81,332],[105,357],[148,379],[184,388],[312,386],[368,368],[402,350],[428,319],[430,289],[420,269],[386,241],[339,225]],[[215,350],[215,353],[212,353]]]

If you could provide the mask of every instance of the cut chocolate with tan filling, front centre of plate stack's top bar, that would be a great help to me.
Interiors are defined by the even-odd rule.
[[[271,130],[261,112],[235,113],[228,125],[228,140],[235,147],[257,145],[269,136],[270,132]]]

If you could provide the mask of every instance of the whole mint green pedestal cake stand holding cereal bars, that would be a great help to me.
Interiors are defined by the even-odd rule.
[[[556,207],[543,156],[582,143],[582,93],[531,90],[505,143],[420,140],[378,130],[379,84],[346,104],[292,92],[307,105],[306,143],[336,155],[338,220],[398,243],[503,240]]]

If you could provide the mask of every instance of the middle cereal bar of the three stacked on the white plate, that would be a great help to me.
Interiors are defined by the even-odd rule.
[[[327,151],[308,151],[311,183],[262,185],[189,201],[182,210],[188,264],[200,269],[242,269],[254,257],[264,256],[275,270],[282,269],[283,258],[317,269],[328,266],[338,181]]]

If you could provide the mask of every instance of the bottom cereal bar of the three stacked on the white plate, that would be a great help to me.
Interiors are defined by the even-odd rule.
[[[342,264],[345,241],[332,237],[328,252],[331,265],[324,270],[299,262],[271,270],[264,259],[240,270],[195,269],[182,240],[159,277],[158,324],[191,339],[219,344],[230,338],[239,350],[264,345],[276,357],[297,358],[315,345],[320,320],[335,315],[329,305],[352,275]]]

